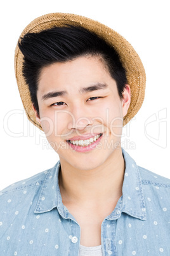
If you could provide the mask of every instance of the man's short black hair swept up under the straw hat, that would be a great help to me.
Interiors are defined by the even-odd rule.
[[[42,68],[55,62],[74,60],[83,55],[100,55],[117,84],[119,97],[127,83],[126,70],[115,49],[95,33],[73,25],[27,33],[18,46],[23,53],[23,76],[29,85],[34,108],[39,115],[37,89]]]

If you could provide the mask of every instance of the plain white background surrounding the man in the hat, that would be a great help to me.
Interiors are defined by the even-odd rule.
[[[98,20],[115,29],[133,45],[147,73],[147,89],[141,110],[124,128],[122,146],[139,166],[170,178],[169,1],[15,0],[3,1],[0,7],[0,190],[52,167],[58,160],[58,155],[47,148],[42,132],[30,124],[23,113],[13,61],[16,42],[23,29],[34,18],[52,12],[75,13]],[[10,115],[13,110],[16,114]]]

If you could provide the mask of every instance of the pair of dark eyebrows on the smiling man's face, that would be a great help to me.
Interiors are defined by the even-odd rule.
[[[89,87],[83,87],[79,89],[79,92],[81,94],[85,94],[86,92],[93,92],[94,90],[102,90],[102,89],[107,89],[108,85],[106,83],[96,83],[95,85],[91,85]],[[66,90],[62,90],[60,92],[48,92],[48,94],[44,94],[42,96],[42,100],[49,99],[51,97],[58,97],[58,96],[65,96],[67,95]]]

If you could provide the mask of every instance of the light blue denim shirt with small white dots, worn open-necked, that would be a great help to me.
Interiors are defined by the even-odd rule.
[[[170,180],[126,162],[122,196],[101,224],[106,255],[170,255]],[[62,203],[60,162],[0,192],[0,255],[78,256],[81,229]]]

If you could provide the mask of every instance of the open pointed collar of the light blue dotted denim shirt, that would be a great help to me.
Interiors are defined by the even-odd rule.
[[[119,217],[119,214],[124,212],[128,215],[131,215],[132,217],[146,220],[147,211],[143,197],[140,171],[136,165],[136,162],[131,159],[129,154],[123,149],[122,153],[126,164],[124,182],[122,186],[122,197],[119,199],[115,210],[110,215],[110,218]],[[58,161],[52,169],[47,171],[34,213],[44,213],[57,208],[58,212],[63,218],[74,219],[62,203],[62,197],[58,185],[59,170],[60,161]]]

